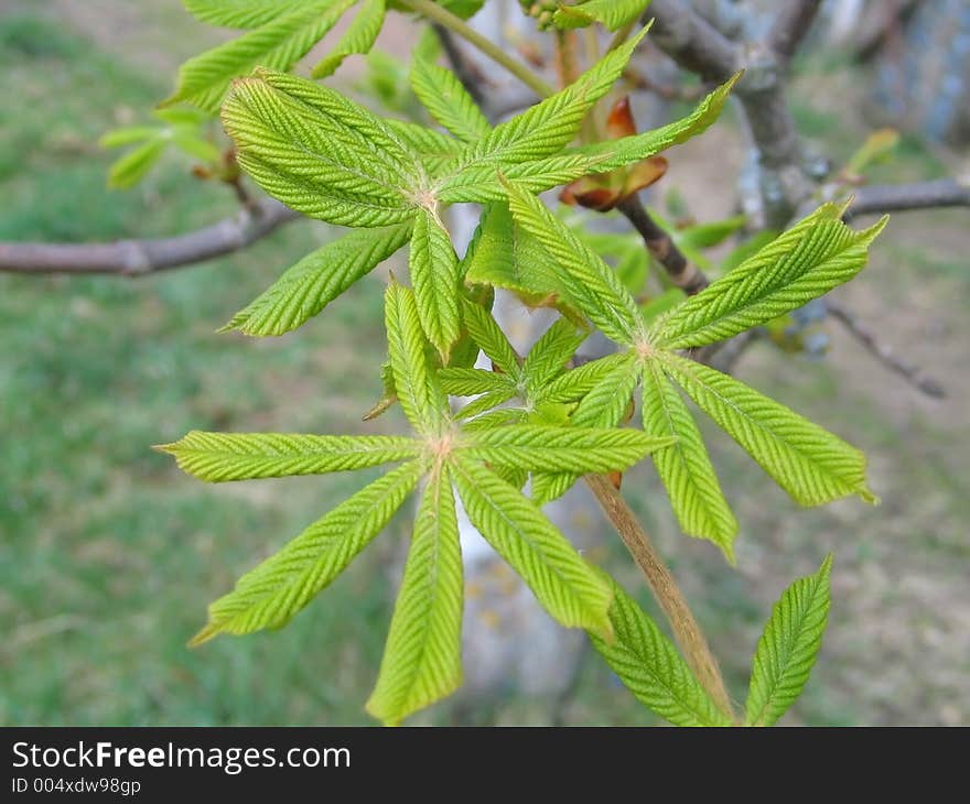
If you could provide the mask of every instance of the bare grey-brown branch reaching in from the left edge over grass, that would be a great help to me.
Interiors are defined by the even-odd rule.
[[[278,200],[263,198],[231,218],[177,237],[112,243],[4,242],[0,271],[143,276],[241,251],[299,217]]]

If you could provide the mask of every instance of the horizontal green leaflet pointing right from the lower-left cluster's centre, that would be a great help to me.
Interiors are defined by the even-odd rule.
[[[602,475],[628,469],[673,438],[655,438],[637,430],[593,430],[519,425],[475,433],[462,453],[489,465],[529,471]]]

